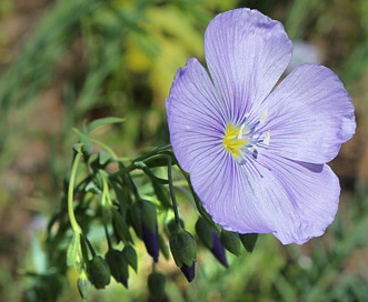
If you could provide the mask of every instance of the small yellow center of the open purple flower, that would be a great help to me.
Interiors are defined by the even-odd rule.
[[[249,144],[249,142],[243,138],[243,127],[236,127],[228,123],[225,129],[225,135],[222,140],[223,148],[231,153],[237,160],[242,155],[242,149]]]

